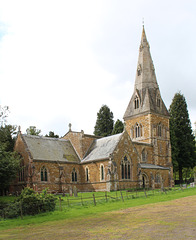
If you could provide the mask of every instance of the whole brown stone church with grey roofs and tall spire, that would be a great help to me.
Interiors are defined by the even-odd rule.
[[[21,171],[11,186],[40,192],[112,191],[173,185],[169,113],[161,97],[143,27],[135,87],[123,133],[98,137],[69,131],[59,139],[18,132]]]

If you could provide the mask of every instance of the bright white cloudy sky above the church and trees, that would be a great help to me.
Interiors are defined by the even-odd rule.
[[[114,120],[133,93],[142,23],[161,96],[187,101],[196,121],[196,1],[0,0],[0,105],[26,133],[92,134],[106,104]]]

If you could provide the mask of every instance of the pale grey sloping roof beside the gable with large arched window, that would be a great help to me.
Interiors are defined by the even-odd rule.
[[[95,140],[82,162],[109,158],[119,143],[122,134],[119,133]]]

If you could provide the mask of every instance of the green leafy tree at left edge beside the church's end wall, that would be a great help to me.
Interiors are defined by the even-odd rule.
[[[16,178],[20,156],[16,152],[7,152],[0,146],[0,190],[6,189]]]

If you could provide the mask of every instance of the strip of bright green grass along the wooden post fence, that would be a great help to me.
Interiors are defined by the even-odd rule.
[[[120,198],[120,192],[118,192],[118,200],[109,200],[106,202],[104,196],[104,192],[96,192],[95,197],[103,196],[103,198],[100,198],[99,201],[97,201],[97,205],[94,206],[93,199],[92,199],[93,193],[82,193],[82,198],[90,198],[84,201],[84,205],[81,205],[81,193],[78,194],[77,198],[71,197],[69,198],[69,201],[71,203],[71,206],[68,207],[67,204],[67,197],[63,197],[62,204],[62,210],[59,209],[59,199],[57,198],[57,207],[54,212],[48,212],[44,214],[39,214],[36,216],[24,216],[23,219],[17,218],[17,219],[7,219],[7,220],[0,220],[0,229],[12,229],[17,227],[24,227],[28,226],[29,224],[47,224],[49,221],[60,221],[65,219],[76,219],[80,218],[83,219],[87,216],[93,215],[98,216],[101,213],[109,212],[113,210],[120,210],[120,209],[126,209],[129,207],[135,207],[135,206],[141,206],[145,204],[153,204],[157,202],[164,202],[164,201],[170,201],[182,197],[187,196],[193,196],[196,195],[196,188],[187,188],[184,190],[172,190],[168,191],[167,194],[155,191],[153,194],[153,191],[147,192],[147,198],[145,197],[144,192],[137,193],[129,193],[128,199],[126,197],[125,191],[123,192],[124,202]],[[108,193],[109,196],[116,196],[115,192]],[[135,198],[132,198],[132,195],[134,195]],[[0,197],[0,201],[5,201],[5,197]],[[73,200],[77,199],[77,200]],[[9,201],[9,198],[6,199],[6,201]],[[73,203],[74,202],[74,203]],[[55,223],[54,223],[55,224]]]

